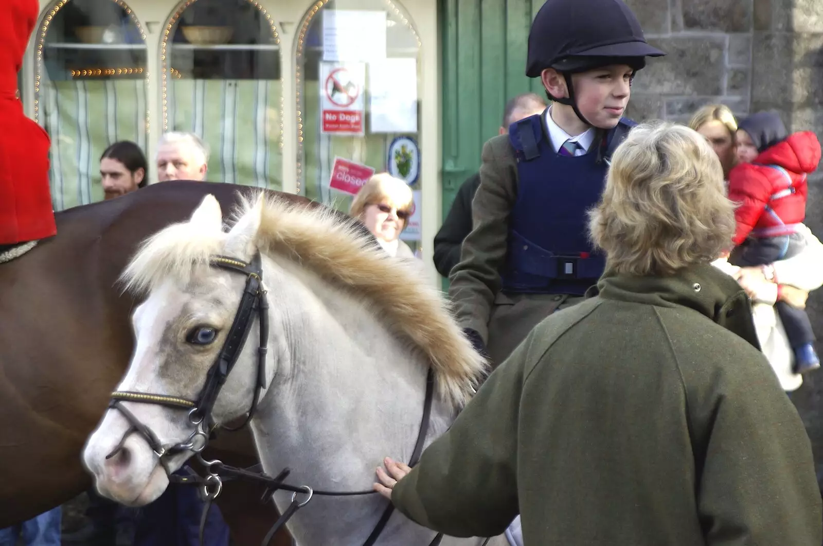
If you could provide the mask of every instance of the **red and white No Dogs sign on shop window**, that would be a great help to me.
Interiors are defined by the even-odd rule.
[[[320,63],[323,133],[363,134],[364,63]]]

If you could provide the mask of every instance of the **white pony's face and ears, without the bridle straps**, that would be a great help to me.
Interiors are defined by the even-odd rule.
[[[212,201],[204,201],[190,222],[197,225],[208,221],[211,224],[203,227],[221,230],[220,208],[213,198]],[[221,232],[225,239],[221,254],[249,259],[249,232],[254,229],[249,222],[239,222],[229,234]],[[133,314],[137,344],[117,390],[196,401],[226,342],[245,281],[242,273],[200,266],[193,269],[185,282],[174,276],[157,282]],[[257,381],[257,341],[255,328],[216,399],[212,410],[216,422],[229,422],[249,410]],[[184,443],[195,432],[186,408],[129,401],[121,404],[155,434],[162,446]],[[101,494],[124,505],[142,506],[159,497],[169,479],[146,437],[138,432],[129,433],[132,425],[122,412],[109,408],[86,443],[83,462]],[[191,455],[191,450],[163,455],[163,462],[174,471]]]

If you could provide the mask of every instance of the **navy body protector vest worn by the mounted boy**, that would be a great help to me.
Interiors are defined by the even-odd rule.
[[[502,289],[582,296],[606,265],[588,240],[586,212],[600,200],[611,152],[636,124],[621,119],[615,128],[598,131],[585,155],[561,156],[544,115],[548,109],[509,127],[518,197],[509,216]]]

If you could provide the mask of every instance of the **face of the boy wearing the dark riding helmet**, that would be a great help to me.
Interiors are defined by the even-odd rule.
[[[634,73],[625,64],[615,64],[572,74],[577,108],[588,123],[604,129],[616,126],[629,104]]]

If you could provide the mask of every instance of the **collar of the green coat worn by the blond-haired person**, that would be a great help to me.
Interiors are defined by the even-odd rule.
[[[605,273],[586,296],[658,307],[688,307],[760,350],[749,297],[737,281],[711,264],[681,269],[670,277]]]

